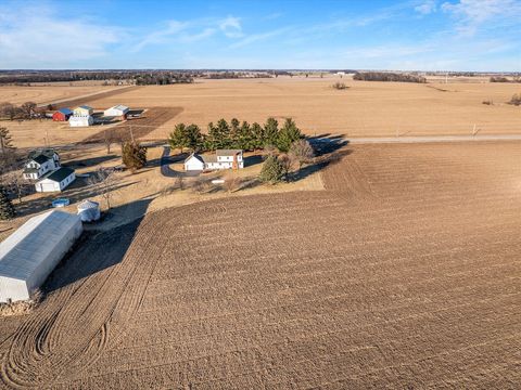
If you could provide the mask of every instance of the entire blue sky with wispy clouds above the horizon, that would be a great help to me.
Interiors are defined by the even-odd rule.
[[[7,1],[0,68],[521,72],[521,0]]]

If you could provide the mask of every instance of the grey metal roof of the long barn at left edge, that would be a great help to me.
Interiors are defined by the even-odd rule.
[[[27,280],[78,221],[78,216],[58,210],[29,219],[0,243],[0,276]]]

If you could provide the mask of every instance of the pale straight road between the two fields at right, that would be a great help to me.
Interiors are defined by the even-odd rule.
[[[521,129],[520,129],[521,130]],[[323,140],[323,139],[322,139]],[[350,144],[371,143],[433,143],[433,142],[475,142],[475,141],[521,141],[521,134],[491,135],[432,135],[432,136],[373,136],[346,139]]]

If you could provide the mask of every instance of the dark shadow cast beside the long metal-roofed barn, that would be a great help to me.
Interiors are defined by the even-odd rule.
[[[43,284],[43,296],[122,262],[151,202],[151,198],[141,199],[122,206],[142,210],[141,217],[127,224],[107,231],[85,230]],[[109,218],[118,213],[118,209],[112,209]]]

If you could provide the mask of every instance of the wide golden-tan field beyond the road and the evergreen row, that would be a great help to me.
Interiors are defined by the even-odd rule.
[[[331,88],[344,82],[346,90]],[[130,107],[182,107],[170,128],[150,133],[164,139],[177,121],[206,129],[224,117],[264,122],[292,117],[306,134],[347,136],[519,133],[520,107],[506,104],[519,84],[450,79],[447,84],[354,81],[339,77],[196,80],[193,84],[147,86],[97,102]],[[491,101],[492,105],[483,104]]]

